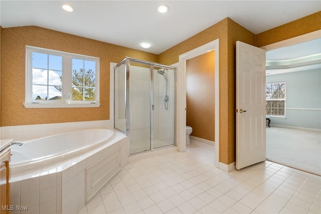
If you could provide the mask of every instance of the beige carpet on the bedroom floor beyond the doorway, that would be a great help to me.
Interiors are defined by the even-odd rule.
[[[321,132],[266,127],[266,159],[321,175]]]

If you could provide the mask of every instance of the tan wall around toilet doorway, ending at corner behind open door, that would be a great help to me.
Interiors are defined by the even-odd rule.
[[[220,162],[235,161],[235,42],[255,45],[255,35],[230,18],[218,22],[158,56],[159,63],[174,64],[179,55],[220,39]]]

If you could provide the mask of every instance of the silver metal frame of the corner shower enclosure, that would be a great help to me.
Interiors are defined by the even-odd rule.
[[[149,114],[150,114],[150,130],[149,130],[149,134],[150,134],[150,139],[149,139],[149,143],[150,143],[150,150],[148,151],[142,151],[142,152],[138,152],[138,153],[133,153],[130,154],[130,111],[129,111],[129,104],[130,104],[130,99],[129,99],[129,90],[130,90],[130,84],[129,84],[129,72],[130,72],[130,62],[133,63],[140,63],[143,65],[149,65],[149,72],[150,72],[150,90],[149,90]],[[126,129],[125,132],[123,132],[122,130],[119,130],[115,127],[115,96],[114,96],[114,129],[122,132],[123,134],[125,134],[126,136],[128,136],[128,149],[129,149],[129,155],[137,155],[137,154],[142,154],[142,153],[149,153],[152,152],[153,150],[160,150],[163,148],[168,148],[168,147],[172,147],[172,146],[177,146],[177,142],[176,142],[176,108],[177,108],[177,101],[176,101],[176,91],[177,91],[177,84],[176,84],[176,80],[177,80],[177,67],[175,66],[170,66],[170,65],[163,65],[163,64],[159,64],[156,62],[151,62],[151,61],[145,61],[145,60],[140,60],[140,59],[135,59],[135,58],[131,58],[131,57],[125,57],[123,60],[121,60],[119,63],[117,63],[117,65],[114,66],[114,81],[115,81],[115,72],[116,69],[125,64],[125,117],[126,117]],[[173,116],[173,120],[174,120],[174,144],[173,145],[169,145],[169,146],[164,146],[164,147],[159,147],[159,148],[153,148],[153,71],[154,71],[154,67],[162,67],[162,68],[166,68],[166,69],[171,69],[174,70],[174,93],[173,93],[173,100],[174,100],[174,116]],[[115,82],[114,82],[114,91],[115,91]],[[115,93],[115,92],[114,92]]]

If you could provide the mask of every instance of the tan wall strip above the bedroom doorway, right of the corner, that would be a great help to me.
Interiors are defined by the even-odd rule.
[[[256,35],[256,47],[311,33],[321,29],[321,11]]]

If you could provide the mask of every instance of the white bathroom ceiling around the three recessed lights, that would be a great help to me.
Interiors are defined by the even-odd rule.
[[[61,3],[75,8],[69,13]],[[156,6],[166,4],[161,14]],[[3,28],[39,26],[159,54],[226,17],[254,34],[321,10],[321,1],[0,1]],[[151,47],[144,49],[140,43]]]

